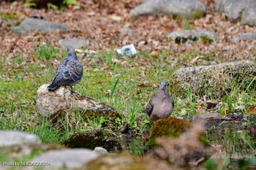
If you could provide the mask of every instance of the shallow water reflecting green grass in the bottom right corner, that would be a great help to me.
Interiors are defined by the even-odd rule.
[[[227,122],[206,131],[206,138],[219,150],[203,166],[206,169],[256,169],[256,137],[241,123]]]

